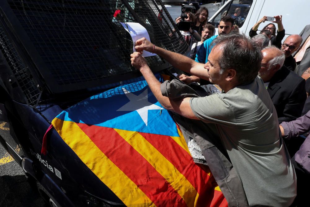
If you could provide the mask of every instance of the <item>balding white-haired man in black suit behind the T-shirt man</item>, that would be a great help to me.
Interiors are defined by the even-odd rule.
[[[268,46],[262,53],[259,76],[276,108],[279,123],[295,120],[307,98],[305,80],[283,66],[285,56],[277,47]]]

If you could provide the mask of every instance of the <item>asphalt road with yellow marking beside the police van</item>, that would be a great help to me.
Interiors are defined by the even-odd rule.
[[[9,125],[0,121],[1,136],[9,137]],[[0,206],[47,207],[35,188],[31,188],[20,165],[0,144]]]

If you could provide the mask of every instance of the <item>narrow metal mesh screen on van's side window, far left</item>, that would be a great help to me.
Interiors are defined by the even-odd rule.
[[[27,71],[23,61],[20,59],[17,51],[12,45],[11,41],[7,37],[7,34],[0,26],[0,50],[4,55],[7,63],[9,64],[17,84],[23,91],[27,103],[29,106],[34,107],[38,103],[38,99],[41,96],[40,90],[30,77],[30,73]],[[10,82],[15,81],[11,80]]]

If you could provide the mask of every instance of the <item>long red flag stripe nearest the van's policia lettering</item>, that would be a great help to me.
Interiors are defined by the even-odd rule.
[[[95,145],[122,170],[157,206],[186,206],[171,187],[113,128],[78,123]],[[119,183],[121,185],[121,183]]]

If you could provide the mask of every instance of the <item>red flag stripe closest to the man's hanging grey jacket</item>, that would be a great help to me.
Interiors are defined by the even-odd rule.
[[[222,192],[214,190],[217,183],[213,176],[208,175],[208,173],[210,173],[209,168],[205,167],[205,170],[208,170],[208,172],[206,172],[195,164],[192,156],[170,136],[142,132],[139,132],[139,134],[165,156],[166,159],[193,185],[199,193],[197,206],[213,206],[211,203],[221,203],[221,201],[225,200]],[[226,202],[226,200],[224,202]]]

